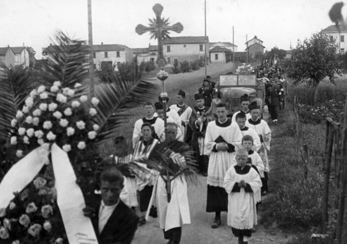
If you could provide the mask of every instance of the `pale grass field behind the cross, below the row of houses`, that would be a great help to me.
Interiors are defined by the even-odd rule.
[[[210,63],[207,66],[207,74],[212,77],[212,80],[219,79],[220,74],[225,74],[227,72],[234,72],[232,63]],[[198,89],[202,85],[202,81],[205,77],[205,69],[201,68],[200,70],[189,72],[189,73],[180,73],[180,74],[170,74],[167,80],[165,81],[165,91],[168,93],[169,102],[168,105],[176,103],[176,94],[182,89],[186,92],[186,103],[188,106],[195,106],[194,94],[197,93]],[[145,80],[153,82],[159,86],[158,96],[162,91],[161,81],[154,77],[146,77]],[[97,87],[95,88],[97,90]],[[152,102],[155,103],[158,101],[158,96],[153,97]],[[120,126],[118,135],[123,135],[126,138],[131,138],[134,123],[143,117],[143,108],[139,104],[139,107],[136,109],[129,110],[127,112],[128,120],[126,123]],[[111,141],[108,141],[103,145],[101,153],[103,155],[112,154]]]

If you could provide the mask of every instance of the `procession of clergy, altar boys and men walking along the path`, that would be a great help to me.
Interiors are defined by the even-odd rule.
[[[269,78],[266,71],[258,79],[264,81],[265,102],[273,124],[277,124],[278,110],[285,107],[287,81],[283,74],[280,79]],[[192,158],[195,171],[207,177],[206,212],[215,215],[211,228],[221,226],[221,212],[227,212],[227,225],[238,243],[248,243],[255,232],[258,205],[268,193],[271,130],[260,119],[260,106],[247,95],[241,95],[240,111],[230,117],[215,86],[211,77],[206,77],[194,95],[194,107],[185,103],[182,90],[176,95],[176,104],[169,107],[167,97],[146,103],[143,117],[134,124],[131,153],[123,136],[115,138],[115,153],[104,159],[109,167],[101,173],[100,190],[95,191],[99,204],[84,210],[95,223],[100,244],[129,244],[137,226],[155,220],[168,244],[179,244],[182,226],[191,221],[188,183],[182,172]],[[146,170],[124,176],[112,167],[141,158],[151,161],[154,152],[163,147],[159,156],[169,158],[170,167],[176,169],[172,172],[177,174],[149,167],[141,160],[137,164]]]

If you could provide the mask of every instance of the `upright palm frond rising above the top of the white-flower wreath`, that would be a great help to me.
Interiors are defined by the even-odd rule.
[[[83,83],[88,76],[89,46],[85,41],[71,39],[62,31],[57,31],[56,42],[48,47],[48,61],[45,64],[46,85],[61,81],[63,87],[73,87]]]

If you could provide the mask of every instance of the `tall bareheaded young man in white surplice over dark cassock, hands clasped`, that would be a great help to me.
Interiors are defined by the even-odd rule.
[[[241,147],[242,133],[236,123],[227,118],[225,103],[217,105],[216,121],[209,122],[205,135],[205,154],[210,155],[207,171],[206,212],[215,212],[212,228],[221,225],[221,212],[227,211],[228,199],[223,180],[231,166],[235,150]]]

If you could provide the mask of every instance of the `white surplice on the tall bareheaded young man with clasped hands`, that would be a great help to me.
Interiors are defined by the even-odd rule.
[[[223,187],[225,172],[231,166],[231,160],[235,154],[235,152],[227,151],[214,152],[217,144],[215,140],[221,136],[226,143],[235,147],[235,151],[241,148],[242,133],[239,126],[231,123],[230,120],[226,120],[224,123],[220,123],[218,120],[211,121],[206,129],[204,153],[210,155],[207,184],[211,186]]]

